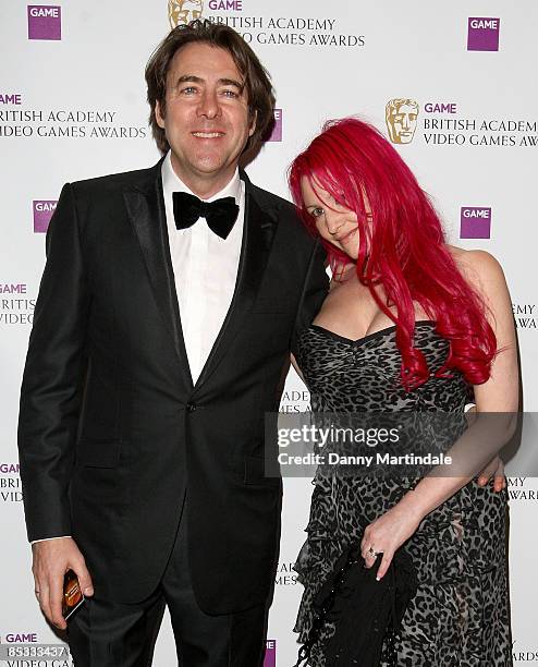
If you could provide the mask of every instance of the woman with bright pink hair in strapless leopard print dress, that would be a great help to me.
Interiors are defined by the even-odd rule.
[[[331,290],[305,329],[296,363],[314,411],[517,411],[510,295],[497,260],[448,245],[428,197],[399,154],[356,119],[329,122],[293,162],[290,186],[321,238]],[[306,641],[313,598],[343,547],[384,577],[411,555],[418,591],[405,613],[398,664],[512,665],[506,579],[506,490],[470,476],[417,484],[315,478],[305,585],[295,630]],[[367,525],[366,530],[363,530]],[[331,628],[325,631],[329,636]],[[325,665],[321,642],[309,664]],[[384,663],[383,663],[384,664]]]

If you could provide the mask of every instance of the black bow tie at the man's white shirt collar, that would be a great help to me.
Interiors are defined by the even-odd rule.
[[[232,231],[240,207],[233,197],[203,202],[187,192],[172,193],[174,220],[178,229],[192,227],[198,218],[206,218],[207,226],[221,239]]]

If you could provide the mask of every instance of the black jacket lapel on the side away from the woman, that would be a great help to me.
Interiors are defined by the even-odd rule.
[[[168,241],[161,163],[162,160],[148,170],[146,181],[140,181],[139,184],[125,190],[123,198],[144,256],[155,300],[180,360],[185,386],[192,389],[193,379],[183,340]]]

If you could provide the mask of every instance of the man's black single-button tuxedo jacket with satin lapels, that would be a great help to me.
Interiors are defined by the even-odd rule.
[[[242,173],[235,292],[193,386],[160,167],[62,190],[21,392],[26,523],[29,539],[73,535],[96,591],[137,602],[166,568],[186,490],[197,601],[228,614],[271,587],[282,492],[264,475],[264,413],[327,293],[325,253]]]

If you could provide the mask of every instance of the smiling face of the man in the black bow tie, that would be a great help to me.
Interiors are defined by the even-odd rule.
[[[167,77],[166,109],[156,106],[175,173],[188,186],[221,190],[232,178],[255,122],[248,116],[243,76],[232,57],[205,43],[187,44]]]

